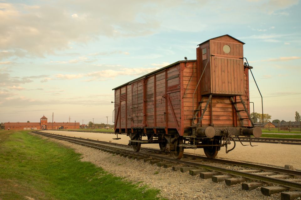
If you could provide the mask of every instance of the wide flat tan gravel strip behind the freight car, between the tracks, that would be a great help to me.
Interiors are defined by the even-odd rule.
[[[71,137],[90,138],[99,141],[112,141],[113,143],[128,144],[129,137],[126,135],[118,135],[120,140],[113,140],[116,138],[114,134],[107,133],[83,133],[83,132],[69,132],[69,131],[45,131],[47,133],[61,134]],[[248,144],[248,143],[244,143]],[[275,167],[282,167],[284,165],[293,165],[294,168],[301,170],[301,147],[300,145],[290,144],[272,144],[272,143],[252,143],[258,145],[255,147],[242,146],[236,142],[236,147],[230,153],[225,152],[225,148],[221,148],[216,158],[250,162],[262,165],[269,165]],[[158,144],[142,144],[141,147],[159,148]],[[230,148],[228,148],[230,149]],[[205,156],[203,149],[185,149],[184,153],[191,153]]]

